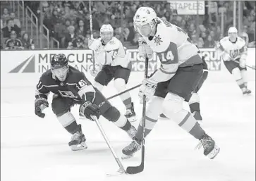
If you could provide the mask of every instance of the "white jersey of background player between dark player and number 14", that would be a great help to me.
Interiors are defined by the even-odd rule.
[[[128,52],[123,44],[113,37],[106,45],[102,44],[102,39],[95,39],[89,46],[95,53],[95,62],[100,65],[121,65],[123,68],[131,69],[131,63]]]

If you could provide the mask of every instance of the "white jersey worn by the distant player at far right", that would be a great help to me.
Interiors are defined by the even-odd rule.
[[[247,47],[243,38],[237,37],[236,42],[232,43],[229,37],[224,37],[219,41],[218,46],[221,51],[224,51],[233,60],[241,57],[246,58],[247,56]]]

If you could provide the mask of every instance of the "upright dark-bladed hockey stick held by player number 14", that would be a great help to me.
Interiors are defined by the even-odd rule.
[[[145,60],[145,78],[147,78],[147,67],[148,58]],[[143,108],[142,108],[142,149],[141,149],[141,163],[140,166],[129,166],[126,169],[128,174],[141,173],[144,170],[144,160],[145,160],[145,122],[146,122],[146,96],[143,95]]]

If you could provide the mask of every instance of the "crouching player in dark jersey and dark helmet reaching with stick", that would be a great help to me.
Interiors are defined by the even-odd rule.
[[[71,113],[71,106],[80,104],[79,113],[87,119],[91,116],[103,116],[107,120],[126,131],[133,139],[136,129],[127,120],[126,116],[114,107],[109,101],[91,85],[85,74],[68,65],[64,54],[51,58],[51,70],[43,73],[37,84],[35,94],[35,114],[44,118],[43,109],[49,106],[48,94],[54,93],[51,108],[63,127],[71,133],[71,142],[68,143],[73,151],[87,149],[85,135],[81,125],[75,121]]]

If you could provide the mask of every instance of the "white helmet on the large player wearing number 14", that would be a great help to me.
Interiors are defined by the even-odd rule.
[[[157,13],[150,7],[140,7],[133,17],[133,25],[137,32],[143,36],[150,36],[157,24]]]

